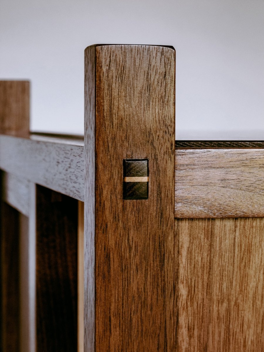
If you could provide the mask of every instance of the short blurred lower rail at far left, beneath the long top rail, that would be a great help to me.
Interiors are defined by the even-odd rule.
[[[29,181],[7,172],[2,173],[2,200],[29,216]]]

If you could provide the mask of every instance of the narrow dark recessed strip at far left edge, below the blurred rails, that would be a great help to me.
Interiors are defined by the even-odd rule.
[[[0,351],[19,351],[19,213],[1,202]]]

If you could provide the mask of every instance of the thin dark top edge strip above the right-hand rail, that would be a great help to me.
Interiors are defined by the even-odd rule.
[[[176,140],[176,149],[264,149],[263,140]]]

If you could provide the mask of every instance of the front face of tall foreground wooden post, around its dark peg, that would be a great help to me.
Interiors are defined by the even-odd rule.
[[[175,51],[105,45],[87,48],[86,58],[86,92],[91,84],[96,89],[86,93],[85,129],[89,143],[95,120],[96,158],[87,155],[85,198],[94,194],[90,156],[96,172],[95,350],[171,351]],[[149,159],[147,200],[122,199],[123,159]]]

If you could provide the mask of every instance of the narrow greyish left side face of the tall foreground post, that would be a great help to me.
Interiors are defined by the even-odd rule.
[[[95,52],[84,52],[84,352],[95,351]]]

